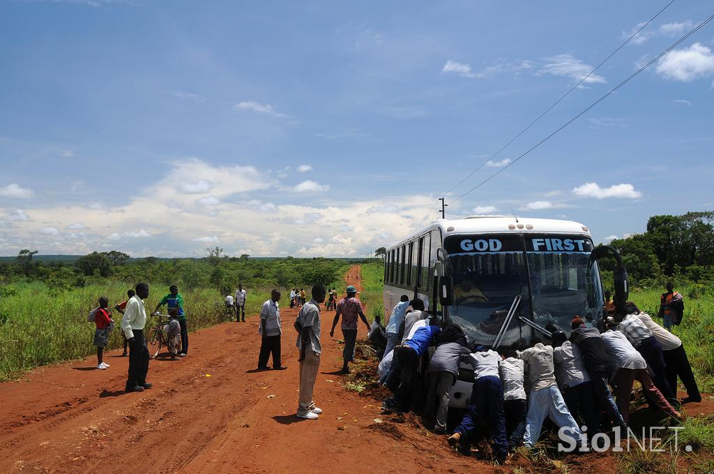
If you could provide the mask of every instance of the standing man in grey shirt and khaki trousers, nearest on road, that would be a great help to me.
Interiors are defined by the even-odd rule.
[[[325,302],[326,290],[321,286],[313,286],[312,300],[301,307],[295,319],[295,329],[298,331],[297,346],[300,350],[300,397],[298,401],[298,418],[317,420],[322,413],[315,406],[313,389],[317,371],[320,367],[320,304]]]

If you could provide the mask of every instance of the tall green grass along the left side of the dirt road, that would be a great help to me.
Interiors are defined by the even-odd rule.
[[[168,292],[166,285],[149,285],[146,312]],[[69,291],[49,290],[42,282],[3,287],[0,295],[0,380],[25,370],[61,360],[73,360],[96,352],[92,345],[94,323],[86,320],[100,296],[109,297],[110,308],[124,300],[129,287],[122,282],[88,285]],[[225,321],[223,297],[213,289],[181,290],[189,330]],[[267,289],[248,288],[246,312],[258,312],[268,299]],[[109,348],[121,347],[120,314],[112,310],[116,328]],[[149,327],[147,322],[146,326]]]

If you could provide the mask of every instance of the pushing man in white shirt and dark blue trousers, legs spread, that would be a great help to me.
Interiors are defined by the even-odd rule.
[[[463,415],[461,424],[448,438],[448,443],[455,448],[461,438],[470,438],[479,420],[488,419],[493,436],[493,452],[496,461],[503,463],[508,455],[506,440],[506,418],[503,415],[503,384],[498,375],[498,362],[501,356],[495,350],[479,346],[476,352],[462,357],[462,360],[473,367],[473,389],[468,402],[468,412]]]

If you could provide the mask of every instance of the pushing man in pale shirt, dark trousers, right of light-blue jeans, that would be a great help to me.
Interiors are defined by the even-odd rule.
[[[588,428],[588,438],[593,438],[600,433],[600,403],[580,348],[570,342],[563,331],[553,332],[553,362],[565,406],[573,418],[580,417]]]

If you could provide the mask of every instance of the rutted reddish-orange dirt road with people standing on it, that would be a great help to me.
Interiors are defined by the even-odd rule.
[[[360,288],[359,268],[346,280]],[[260,347],[253,315],[245,323],[191,333],[186,359],[152,360],[154,387],[142,393],[121,391],[128,360],[117,351],[105,357],[111,365],[106,371],[96,370],[96,359],[88,357],[1,384],[0,472],[491,471],[448,453],[443,438],[373,421],[381,416],[378,403],[346,391],[337,374],[342,346],[329,337],[334,312],[322,312],[315,400],[324,413],[316,421],[296,418],[296,310],[285,300],[282,349],[288,369],[281,372],[251,372]],[[358,335],[366,337],[364,327]]]

